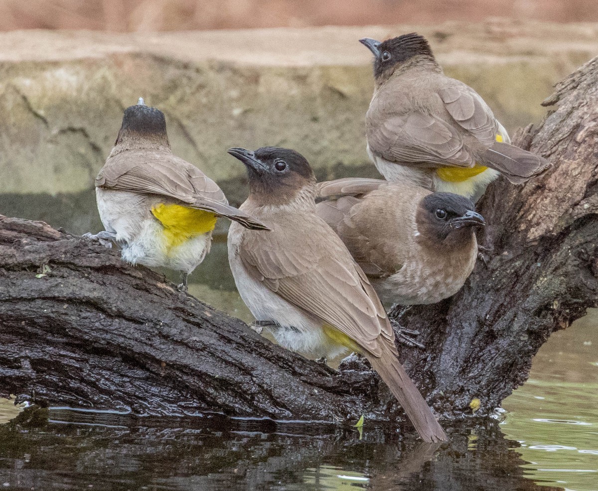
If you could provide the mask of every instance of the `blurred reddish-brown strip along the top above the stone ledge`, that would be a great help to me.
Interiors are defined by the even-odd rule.
[[[0,30],[151,32],[484,20],[593,22],[596,0],[1,0]]]

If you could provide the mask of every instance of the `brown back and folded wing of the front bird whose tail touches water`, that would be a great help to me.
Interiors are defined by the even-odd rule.
[[[324,220],[297,213],[273,231],[245,234],[244,240],[240,259],[270,290],[376,357],[388,348],[395,352],[394,334],[382,303]]]

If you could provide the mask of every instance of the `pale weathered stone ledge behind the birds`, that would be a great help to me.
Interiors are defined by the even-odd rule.
[[[553,84],[598,53],[598,23],[508,19],[0,33],[0,214],[99,230],[93,180],[123,110],[140,96],[166,113],[173,151],[217,180],[233,204],[246,187],[243,166],[225,152],[231,146],[297,149],[320,179],[376,176],[365,154],[371,54],[358,39],[414,30],[511,132],[538,122]]]

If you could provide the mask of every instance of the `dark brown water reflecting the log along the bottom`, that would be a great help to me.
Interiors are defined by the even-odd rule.
[[[44,417],[49,416],[50,421]],[[476,445],[470,446],[475,434]],[[0,426],[6,489],[535,490],[495,422],[450,444],[390,428],[26,410]],[[555,488],[557,489],[557,488]]]

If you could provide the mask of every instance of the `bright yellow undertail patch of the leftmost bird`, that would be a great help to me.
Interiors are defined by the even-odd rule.
[[[218,218],[210,211],[175,204],[161,203],[154,206],[151,212],[164,226],[164,237],[169,249],[212,231]]]

